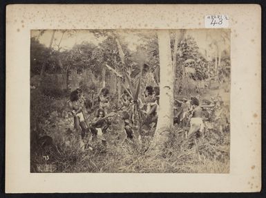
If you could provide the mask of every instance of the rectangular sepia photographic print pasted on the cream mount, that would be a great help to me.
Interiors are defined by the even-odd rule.
[[[227,29],[32,30],[30,172],[229,173],[230,76]]]

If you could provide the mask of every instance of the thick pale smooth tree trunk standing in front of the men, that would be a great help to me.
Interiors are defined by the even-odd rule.
[[[169,30],[158,30],[160,57],[160,109],[152,150],[161,155],[173,127],[173,64]]]

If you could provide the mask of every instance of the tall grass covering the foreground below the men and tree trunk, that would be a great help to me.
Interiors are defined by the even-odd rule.
[[[53,138],[53,143],[45,147],[31,145],[31,172],[229,172],[229,106],[223,104],[221,98],[215,98],[215,109],[205,112],[208,125],[203,134],[187,140],[184,138],[184,128],[175,125],[162,156],[147,152],[154,128],[142,133],[142,143],[121,143],[124,132],[120,116],[113,120],[112,129],[106,134],[106,147],[97,140],[90,142],[93,150],[82,150],[80,136],[73,131],[73,118],[62,108],[65,100],[44,100],[41,95],[31,100],[34,102],[31,104],[34,109],[31,113],[32,122],[36,121],[33,118],[39,116],[41,132],[37,133]],[[49,112],[58,111],[59,114],[47,115],[41,107],[46,107]],[[41,111],[38,110],[40,108]],[[32,127],[31,130],[36,129]]]

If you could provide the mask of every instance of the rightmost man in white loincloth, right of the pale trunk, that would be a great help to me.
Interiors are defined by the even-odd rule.
[[[190,129],[187,137],[189,138],[196,132],[203,132],[204,123],[202,120],[202,108],[200,107],[200,102],[197,98],[191,98],[191,119],[190,119]]]

